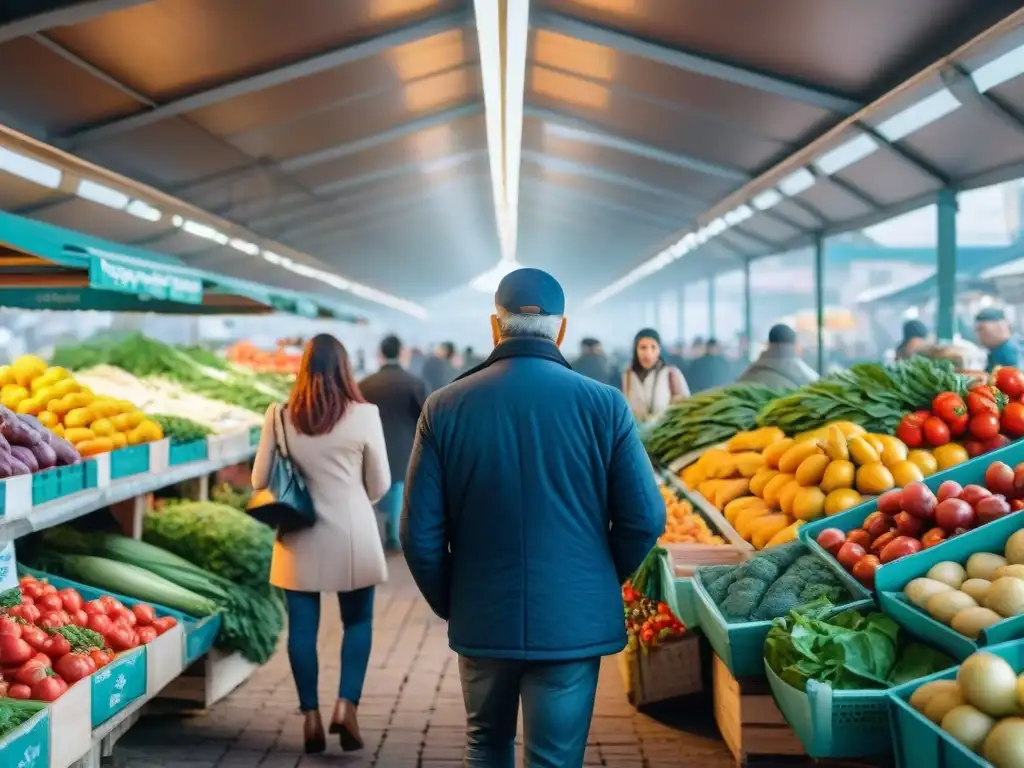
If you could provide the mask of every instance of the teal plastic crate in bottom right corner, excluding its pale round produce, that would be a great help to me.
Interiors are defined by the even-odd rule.
[[[1016,640],[1000,643],[985,650],[1005,658],[1018,674],[1024,671],[1024,642]],[[893,754],[898,768],[916,768],[916,766],[991,768],[990,763],[954,741],[945,731],[909,705],[910,696],[922,685],[933,680],[952,680],[958,670],[958,667],[953,667],[889,691]]]

